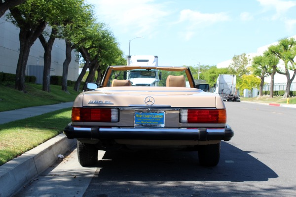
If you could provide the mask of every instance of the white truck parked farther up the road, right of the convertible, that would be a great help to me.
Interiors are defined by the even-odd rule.
[[[224,101],[240,101],[240,97],[236,94],[236,75],[219,74],[215,93]]]

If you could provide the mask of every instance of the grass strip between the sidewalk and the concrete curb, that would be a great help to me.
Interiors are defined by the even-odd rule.
[[[63,132],[71,122],[72,108],[1,125],[0,165]]]

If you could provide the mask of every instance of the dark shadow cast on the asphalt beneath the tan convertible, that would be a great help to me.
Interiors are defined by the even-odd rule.
[[[265,164],[228,143],[220,163],[203,167],[197,152],[145,150],[106,152],[96,167],[101,179],[124,181],[267,181],[278,175]]]

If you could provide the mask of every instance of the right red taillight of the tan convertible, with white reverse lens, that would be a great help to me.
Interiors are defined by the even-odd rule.
[[[225,109],[181,109],[181,123],[226,123]]]

